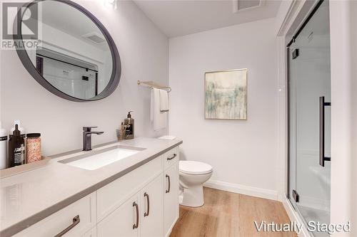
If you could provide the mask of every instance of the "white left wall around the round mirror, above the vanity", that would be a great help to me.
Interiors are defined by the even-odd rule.
[[[97,102],[71,102],[41,87],[21,64],[16,51],[1,52],[1,120],[9,129],[15,119],[26,131],[41,132],[46,155],[79,149],[82,126],[96,125],[104,135],[94,135],[93,144],[116,139],[116,128],[134,110],[136,136],[159,136],[150,125],[150,91],[136,80],[169,83],[169,42],[166,36],[132,1],[118,1],[116,10],[102,1],[83,1],[114,38],[122,63],[119,88]]]

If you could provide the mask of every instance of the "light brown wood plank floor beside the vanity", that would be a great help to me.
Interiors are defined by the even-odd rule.
[[[204,188],[205,204],[198,208],[180,206],[180,217],[171,237],[198,236],[286,236],[296,237],[293,232],[258,232],[258,224],[290,223],[288,214],[279,201],[261,199],[228,191]]]

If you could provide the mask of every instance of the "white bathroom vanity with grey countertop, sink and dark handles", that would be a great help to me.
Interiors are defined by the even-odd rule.
[[[181,143],[114,142],[1,179],[0,236],[169,236]]]

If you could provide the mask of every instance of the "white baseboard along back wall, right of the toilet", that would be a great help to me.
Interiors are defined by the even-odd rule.
[[[261,189],[253,186],[233,184],[215,180],[208,180],[203,184],[203,186],[223,191],[231,191],[236,194],[245,194],[249,196],[257,196],[263,199],[278,200],[278,192],[271,189]]]

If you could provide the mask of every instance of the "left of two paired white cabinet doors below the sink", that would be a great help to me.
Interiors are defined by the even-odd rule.
[[[139,207],[139,194],[135,194],[98,223],[98,237],[138,237],[141,224]]]

